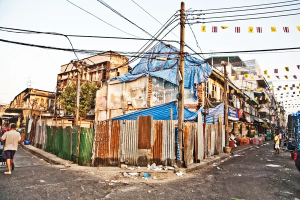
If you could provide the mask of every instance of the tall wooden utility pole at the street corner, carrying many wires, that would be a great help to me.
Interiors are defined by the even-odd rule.
[[[179,88],[178,88],[178,137],[179,137],[179,154],[180,162],[177,163],[179,167],[184,162],[183,152],[183,111],[184,111],[184,2],[180,6],[180,60],[179,60]]]

